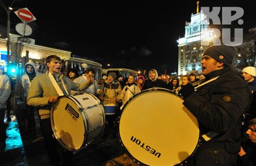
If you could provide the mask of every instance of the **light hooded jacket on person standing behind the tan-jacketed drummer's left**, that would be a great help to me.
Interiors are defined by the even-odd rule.
[[[33,68],[34,68],[34,71],[33,73],[28,73],[27,72],[27,65],[31,65]],[[27,62],[25,64],[25,67],[24,67],[24,75],[22,76],[22,87],[24,89],[24,94],[23,94],[23,97],[24,97],[24,101],[27,100],[27,94],[29,93],[29,87],[30,87],[30,84],[31,84],[31,81],[38,75],[41,75],[41,73],[38,73],[36,71],[36,68],[35,68],[35,64],[34,62]]]

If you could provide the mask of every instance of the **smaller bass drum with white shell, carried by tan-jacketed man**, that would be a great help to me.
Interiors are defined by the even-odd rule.
[[[51,126],[55,138],[71,152],[83,149],[102,134],[104,107],[90,93],[59,97],[51,108]]]

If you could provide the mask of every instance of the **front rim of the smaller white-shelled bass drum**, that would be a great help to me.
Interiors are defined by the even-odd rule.
[[[72,99],[72,101],[74,101],[74,102],[77,102],[77,104],[79,105],[79,106],[77,106],[77,108],[79,109],[79,111],[80,111],[80,109],[82,109],[82,106],[81,106],[80,102],[77,101],[76,98],[72,97],[72,95],[67,95],[67,96],[64,95],[64,96],[61,96],[61,97],[58,98],[58,100],[61,99],[61,98],[65,98],[65,97]],[[55,102],[54,104],[52,104],[52,106],[51,106],[51,113],[50,113],[51,128],[52,128],[52,132],[53,132],[53,134],[54,134],[55,139],[62,145],[62,147],[64,147],[66,150],[69,150],[70,152],[77,152],[77,151],[83,149],[84,147],[80,147],[79,149],[72,149],[72,148],[66,146],[66,144],[63,143],[63,141],[62,141],[60,138],[57,138],[57,137],[56,137],[56,135],[55,135],[55,126],[54,126],[54,108],[55,108],[55,106],[56,106],[56,103],[57,103],[57,102]],[[83,113],[81,113],[81,116],[84,117]],[[86,117],[84,117],[84,118],[86,119]],[[84,120],[83,120],[83,123],[84,123]],[[84,127],[85,127],[85,128],[88,128],[88,121],[87,121],[87,120],[86,120],[86,123],[84,123]],[[84,135],[86,135],[86,132],[84,132]],[[84,140],[83,140],[82,145],[84,145],[84,143],[85,143],[86,141],[87,141],[87,137],[86,137],[86,138],[84,137]]]

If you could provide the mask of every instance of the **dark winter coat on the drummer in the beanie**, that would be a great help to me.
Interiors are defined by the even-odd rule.
[[[223,143],[229,153],[240,151],[240,116],[250,101],[247,83],[230,68],[220,69],[206,75],[206,80],[218,79],[205,84],[183,102],[200,123],[202,134],[218,133],[208,144]],[[202,139],[203,140],[203,139]]]

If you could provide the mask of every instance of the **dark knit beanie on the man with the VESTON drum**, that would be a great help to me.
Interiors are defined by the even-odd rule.
[[[208,47],[205,52],[205,56],[210,56],[218,62],[230,66],[232,64],[233,58],[236,56],[236,50],[234,47],[220,45]]]

